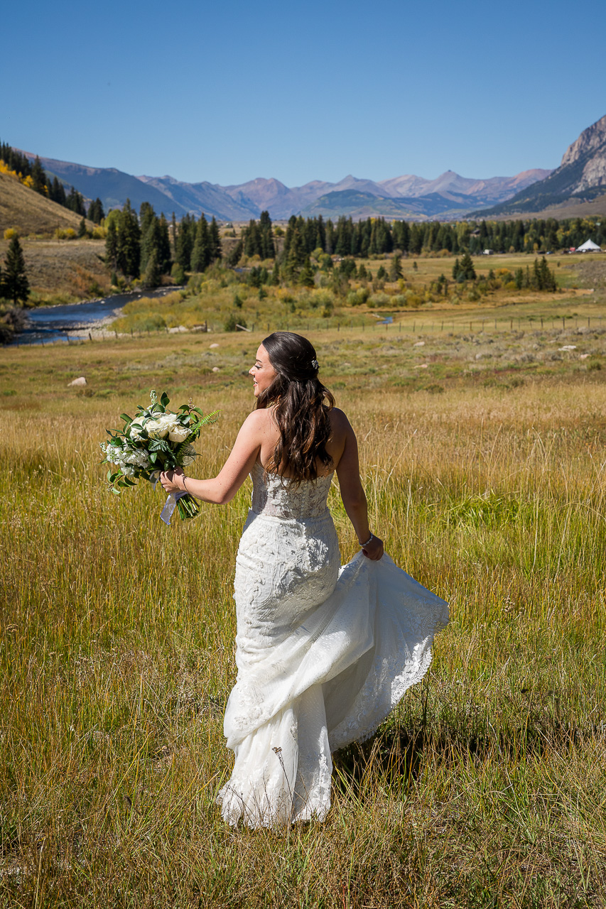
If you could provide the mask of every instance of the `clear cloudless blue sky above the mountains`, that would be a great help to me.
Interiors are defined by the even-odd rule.
[[[513,175],[606,114],[606,5],[33,0],[5,16],[0,139],[227,185]]]

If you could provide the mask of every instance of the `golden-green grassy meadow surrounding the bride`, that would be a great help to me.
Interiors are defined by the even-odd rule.
[[[159,491],[109,494],[98,449],[166,389],[220,409],[194,472],[217,471],[266,326],[6,348],[0,904],[604,905],[602,311],[566,295],[307,323],[371,528],[451,620],[424,682],[335,755],[327,821],[283,832],[228,828],[214,803],[249,482],[166,527]],[[336,487],[330,504],[345,561]]]

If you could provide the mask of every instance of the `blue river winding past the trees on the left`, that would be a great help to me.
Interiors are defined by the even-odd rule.
[[[124,306],[142,296],[172,294],[178,287],[160,287],[136,294],[115,294],[98,300],[85,300],[60,306],[38,306],[27,311],[28,325],[15,338],[16,344],[45,344],[51,341],[86,338],[92,328],[100,328],[120,315]]]

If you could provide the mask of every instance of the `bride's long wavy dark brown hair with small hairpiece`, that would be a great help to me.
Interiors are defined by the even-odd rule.
[[[268,473],[284,474],[295,484],[318,478],[317,462],[332,465],[326,450],[333,395],[318,379],[314,346],[294,332],[274,332],[261,342],[276,378],[258,395],[257,409],[273,406],[279,439]]]

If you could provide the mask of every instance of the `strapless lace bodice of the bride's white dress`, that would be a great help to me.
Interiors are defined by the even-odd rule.
[[[256,514],[282,518],[320,517],[327,511],[328,490],[333,474],[294,484],[288,477],[266,474],[256,463],[250,471],[253,481],[251,508]]]

